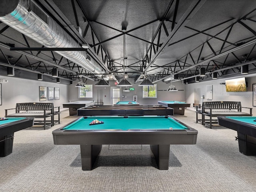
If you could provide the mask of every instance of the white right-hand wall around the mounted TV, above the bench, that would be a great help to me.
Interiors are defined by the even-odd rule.
[[[242,76],[240,76],[242,77]],[[240,101],[242,107],[253,108],[252,114],[256,115],[256,107],[252,106],[252,84],[256,83],[256,77],[247,75],[245,76],[247,86],[247,92],[226,92],[226,86],[220,83],[225,83],[226,79],[234,79],[239,77],[232,78],[223,78],[210,80],[206,82],[196,82],[185,85],[185,98],[186,102],[194,103],[194,88],[200,88],[201,97],[205,96],[205,99],[201,99],[201,104],[203,101]],[[206,86],[213,85],[213,95],[212,100],[206,99]],[[242,109],[243,112],[250,112],[249,109]]]

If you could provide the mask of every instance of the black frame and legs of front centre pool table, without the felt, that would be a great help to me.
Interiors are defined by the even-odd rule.
[[[92,170],[102,144],[150,144],[158,168],[168,170],[170,144],[196,144],[198,134],[185,124],[186,130],[63,130],[68,125],[52,132],[54,144],[80,145],[82,170]]]

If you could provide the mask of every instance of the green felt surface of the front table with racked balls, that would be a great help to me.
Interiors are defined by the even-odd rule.
[[[103,121],[104,124],[89,125],[92,120]],[[162,116],[140,116],[128,118],[119,116],[81,118],[66,126],[64,130],[159,130],[159,129],[188,129],[172,118]]]

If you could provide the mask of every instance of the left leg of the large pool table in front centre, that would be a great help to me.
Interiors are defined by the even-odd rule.
[[[82,170],[92,170],[102,145],[80,145]]]

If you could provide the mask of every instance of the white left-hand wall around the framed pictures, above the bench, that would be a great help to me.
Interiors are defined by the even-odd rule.
[[[2,83],[2,105],[0,105],[0,117],[4,117],[5,109],[15,108],[16,103],[40,102],[39,86],[46,86],[46,88],[60,88],[60,100],[46,100],[41,102],[54,103],[54,106],[60,106],[60,108],[63,108],[62,103],[68,102],[69,85],[8,76],[0,76],[0,79],[8,80],[8,83]],[[10,110],[8,114],[14,112],[15,110]]]

